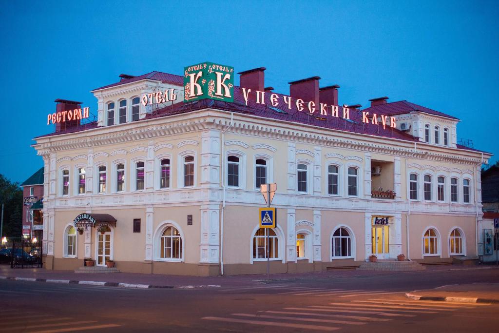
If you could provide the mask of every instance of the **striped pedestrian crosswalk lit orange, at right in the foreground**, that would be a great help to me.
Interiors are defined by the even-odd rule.
[[[365,300],[326,301],[317,305],[259,310],[253,313],[235,312],[224,317],[203,317],[202,319],[219,322],[220,325],[224,326],[230,325],[230,323],[239,324],[234,330],[240,332],[275,331],[275,327],[295,329],[297,332],[336,331],[347,328],[350,331],[358,328],[360,331],[361,327],[365,328],[372,323],[400,321],[428,314],[448,314],[460,309],[480,306],[488,305],[413,301],[401,298],[369,298]]]

